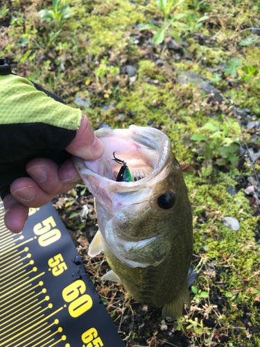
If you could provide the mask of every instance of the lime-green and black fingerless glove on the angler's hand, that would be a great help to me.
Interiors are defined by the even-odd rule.
[[[0,58],[0,195],[11,183],[28,176],[26,164],[38,157],[62,163],[64,150],[76,136],[82,112],[71,108],[40,85],[12,74]]]

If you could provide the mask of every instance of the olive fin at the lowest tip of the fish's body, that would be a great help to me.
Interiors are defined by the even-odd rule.
[[[191,298],[189,296],[189,291],[185,285],[177,298],[175,298],[171,303],[166,303],[162,309],[162,318],[169,318],[173,321],[178,319],[183,314],[183,305],[186,304],[188,307],[191,306]]]

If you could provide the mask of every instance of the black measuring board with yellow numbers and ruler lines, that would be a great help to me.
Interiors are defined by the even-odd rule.
[[[53,205],[19,234],[3,215],[0,200],[0,346],[125,347]]]

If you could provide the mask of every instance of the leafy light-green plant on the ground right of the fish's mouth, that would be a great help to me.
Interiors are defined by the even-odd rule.
[[[193,146],[192,151],[198,155],[198,162],[202,162],[202,176],[209,176],[213,171],[213,165],[218,166],[237,162],[236,151],[239,145],[239,137],[227,137],[227,125],[215,126],[207,123],[202,126],[202,134],[186,135],[183,137],[187,147]]]

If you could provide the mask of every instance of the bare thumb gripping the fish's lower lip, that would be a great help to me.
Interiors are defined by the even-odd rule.
[[[95,136],[87,116],[83,115],[76,137],[66,147],[66,151],[84,160],[96,160],[103,155],[103,143]]]

